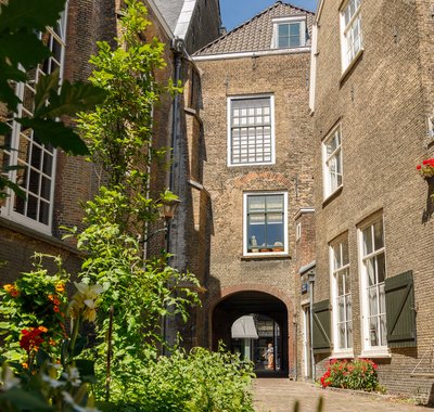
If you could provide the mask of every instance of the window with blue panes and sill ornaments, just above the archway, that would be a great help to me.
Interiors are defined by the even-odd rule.
[[[244,194],[244,255],[288,253],[288,193]]]

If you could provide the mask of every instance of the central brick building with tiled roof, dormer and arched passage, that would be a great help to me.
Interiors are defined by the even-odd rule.
[[[213,348],[221,339],[252,359],[258,372],[272,344],[270,369],[286,375],[296,372],[298,270],[314,253],[312,21],[278,1],[193,56],[212,222],[207,319],[197,330]]]

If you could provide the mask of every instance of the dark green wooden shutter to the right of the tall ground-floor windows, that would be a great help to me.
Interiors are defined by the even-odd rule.
[[[412,271],[385,280],[387,345],[416,346],[416,309]]]

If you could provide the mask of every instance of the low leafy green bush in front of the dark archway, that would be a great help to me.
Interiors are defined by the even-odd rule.
[[[136,379],[113,387],[106,411],[135,412],[253,412],[250,391],[253,365],[224,349],[210,352],[175,349],[170,357],[145,360]]]

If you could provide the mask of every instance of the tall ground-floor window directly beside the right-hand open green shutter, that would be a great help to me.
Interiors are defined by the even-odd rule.
[[[360,231],[365,348],[386,346],[383,219]]]

